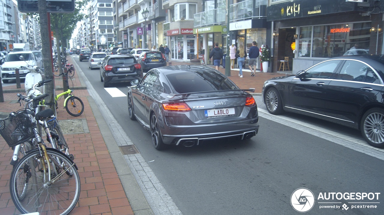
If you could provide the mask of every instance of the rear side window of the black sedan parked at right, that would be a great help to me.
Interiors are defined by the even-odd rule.
[[[380,84],[379,77],[371,67],[362,62],[351,60],[344,63],[337,79]]]

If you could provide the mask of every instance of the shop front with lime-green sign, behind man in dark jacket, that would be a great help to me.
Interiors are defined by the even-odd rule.
[[[199,55],[204,58],[205,64],[212,64],[209,59],[209,53],[218,43],[218,47],[223,49],[223,53],[227,53],[227,26],[214,25],[202,28],[194,28],[193,33],[197,36],[197,50]],[[224,47],[224,48],[223,48]]]

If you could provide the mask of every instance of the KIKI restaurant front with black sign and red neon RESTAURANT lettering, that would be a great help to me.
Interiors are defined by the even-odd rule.
[[[382,29],[382,21],[377,15],[367,15],[366,6],[369,3],[345,0],[296,0],[271,5],[267,20],[274,22],[274,67],[278,70],[280,60],[289,57],[296,74],[329,57],[381,54],[382,35],[375,29]]]

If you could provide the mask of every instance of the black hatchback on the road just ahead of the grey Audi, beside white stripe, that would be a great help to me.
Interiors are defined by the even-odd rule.
[[[104,87],[111,83],[130,82],[134,79],[142,79],[143,71],[137,63],[136,57],[129,55],[107,55],[100,65],[100,80]]]

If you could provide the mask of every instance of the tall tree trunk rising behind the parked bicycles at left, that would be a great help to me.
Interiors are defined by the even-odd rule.
[[[50,23],[48,23],[48,11],[46,8],[46,0],[38,0],[38,13],[40,16],[40,34],[41,34],[41,45],[42,50],[41,54],[43,55],[43,65],[44,65],[44,79],[51,79],[51,82],[48,82],[45,86],[45,93],[48,93],[49,96],[45,98],[45,103],[50,109],[55,112],[55,99],[54,99],[54,82],[53,78],[53,66],[52,66],[52,48],[50,42]]]

